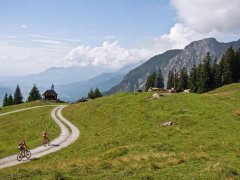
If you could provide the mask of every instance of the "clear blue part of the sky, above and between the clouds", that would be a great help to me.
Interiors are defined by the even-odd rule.
[[[1,34],[41,34],[89,45],[117,37],[131,46],[167,33],[175,17],[167,0],[5,0],[0,1],[0,12]]]

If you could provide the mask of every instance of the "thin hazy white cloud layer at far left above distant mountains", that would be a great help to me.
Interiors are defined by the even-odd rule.
[[[69,50],[68,47],[36,48],[0,41],[0,75],[35,74],[52,66],[70,66],[63,59]]]

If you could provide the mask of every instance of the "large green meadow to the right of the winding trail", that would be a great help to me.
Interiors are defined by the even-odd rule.
[[[63,110],[80,138],[5,179],[238,179],[240,84],[207,94],[126,93]],[[171,127],[160,123],[174,121]]]

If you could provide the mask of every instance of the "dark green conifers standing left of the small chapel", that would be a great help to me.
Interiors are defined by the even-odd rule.
[[[37,88],[37,86],[34,84],[33,88],[31,89],[27,102],[31,101],[36,101],[42,99],[42,96]],[[23,103],[23,96],[21,89],[19,85],[17,85],[14,95],[12,94],[5,94],[4,99],[3,99],[3,106],[11,106],[11,105],[16,105],[16,104],[21,104]]]

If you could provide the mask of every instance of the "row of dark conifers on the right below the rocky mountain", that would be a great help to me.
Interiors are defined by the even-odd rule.
[[[149,75],[145,85],[145,91],[149,87],[164,86],[161,70],[158,75],[154,72]],[[194,93],[204,93],[226,84],[239,82],[240,80],[240,48],[236,51],[232,47],[228,48],[225,54],[217,63],[210,53],[207,53],[202,63],[194,65],[188,73],[183,67],[178,72],[171,70],[168,73],[167,89],[191,89]],[[157,81],[161,81],[158,82]],[[159,86],[158,84],[161,84]]]

